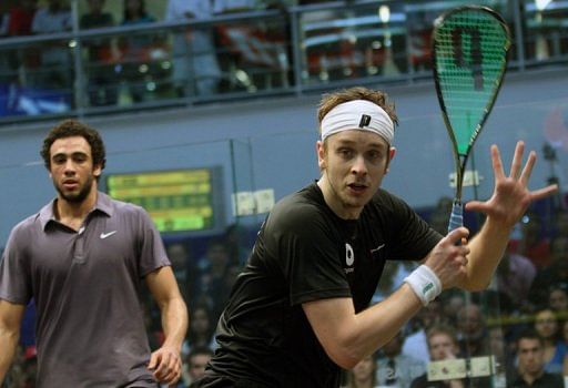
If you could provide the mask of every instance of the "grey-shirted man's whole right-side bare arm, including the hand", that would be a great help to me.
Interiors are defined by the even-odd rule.
[[[187,308],[170,266],[146,275],[146,284],[160,307],[164,344],[152,354],[149,369],[162,382],[173,384],[181,377],[181,350],[187,330]]]

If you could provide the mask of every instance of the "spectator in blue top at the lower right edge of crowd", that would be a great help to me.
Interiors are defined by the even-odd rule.
[[[535,314],[535,330],[540,336],[542,345],[542,363],[546,371],[561,374],[568,349],[561,340],[558,318],[550,308],[544,308]]]

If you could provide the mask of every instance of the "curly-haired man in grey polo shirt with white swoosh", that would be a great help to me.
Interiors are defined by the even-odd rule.
[[[0,262],[0,384],[26,305],[38,318],[38,387],[156,387],[181,376],[187,310],[160,234],[139,206],[98,192],[104,144],[73,120],[41,151],[58,196],[11,232]],[[150,353],[139,292],[145,280],[165,340]]]

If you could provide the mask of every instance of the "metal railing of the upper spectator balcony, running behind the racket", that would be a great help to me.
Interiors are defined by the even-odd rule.
[[[466,1],[336,1],[0,40],[0,125],[430,78],[434,19]],[[568,62],[568,1],[480,1],[510,68]]]

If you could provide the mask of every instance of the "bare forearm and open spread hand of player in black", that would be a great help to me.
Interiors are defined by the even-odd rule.
[[[558,190],[557,185],[536,191],[528,190],[527,185],[537,156],[535,152],[530,152],[521,170],[524,151],[525,144],[518,142],[510,173],[507,176],[499,150],[493,145],[494,193],[486,202],[473,201],[466,204],[466,210],[481,212],[487,217],[479,233],[468,244],[471,253],[468,256],[467,276],[464,277],[464,283],[458,284],[464,289],[481,290],[487,287],[507,247],[515,224],[532,201],[544,198]]]

